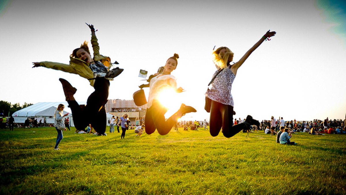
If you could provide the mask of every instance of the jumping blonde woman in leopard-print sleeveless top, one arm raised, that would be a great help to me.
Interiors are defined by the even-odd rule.
[[[233,97],[231,95],[232,83],[236,77],[238,68],[245,62],[249,55],[261,45],[267,38],[275,35],[275,32],[268,32],[254,45],[249,51],[236,63],[230,65],[233,60],[234,53],[227,47],[219,47],[213,55],[213,62],[218,71],[221,72],[212,82],[210,90],[206,92],[206,96],[210,98],[210,134],[217,136],[222,127],[222,133],[226,138],[230,138],[243,129],[248,129],[251,125],[260,126],[257,120],[248,115],[245,122],[233,126]],[[218,72],[216,71],[214,75]]]

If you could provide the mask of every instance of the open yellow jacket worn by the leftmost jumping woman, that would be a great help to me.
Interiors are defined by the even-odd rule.
[[[100,47],[97,42],[96,36],[91,37],[91,45],[94,51],[93,60],[94,61],[100,60],[109,69],[111,67],[110,58],[107,56],[100,55],[99,53]],[[40,66],[55,69],[55,70],[61,70],[61,71],[69,72],[73,74],[78,74],[79,76],[88,79],[90,82],[90,85],[94,86],[94,82],[95,82],[95,79],[93,79],[94,73],[89,68],[89,63],[84,62],[81,59],[70,56],[70,64],[44,61],[44,62],[40,62]]]

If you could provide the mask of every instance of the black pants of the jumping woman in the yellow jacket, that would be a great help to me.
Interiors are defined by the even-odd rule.
[[[85,131],[89,124],[95,131],[102,134],[106,131],[106,110],[109,92],[109,80],[97,77],[94,83],[95,91],[88,97],[85,107],[82,109],[77,101],[67,101],[72,111],[74,126],[77,130]]]

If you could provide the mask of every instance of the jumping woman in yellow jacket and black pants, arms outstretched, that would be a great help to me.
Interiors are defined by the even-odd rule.
[[[91,44],[94,52],[93,58],[91,58],[88,44],[84,42],[79,48],[73,50],[70,55],[70,64],[47,61],[33,62],[33,68],[46,67],[78,74],[88,79],[95,91],[88,97],[84,108],[81,108],[73,97],[77,89],[72,87],[65,79],[59,80],[63,86],[66,101],[71,108],[76,129],[84,130],[85,127],[91,124],[99,134],[105,134],[106,110],[104,109],[104,105],[108,99],[109,80],[113,80],[123,69],[117,67],[109,71],[111,67],[110,58],[100,55],[100,47],[97,42],[94,26],[88,26],[91,29]]]

